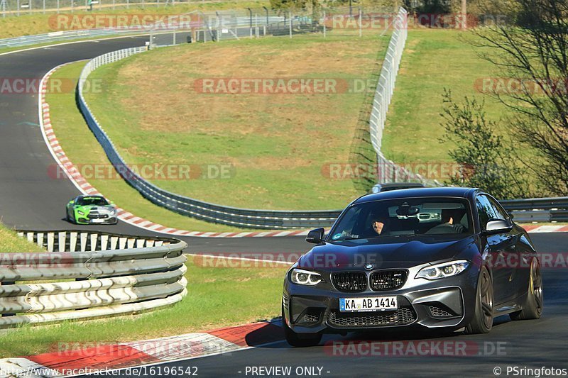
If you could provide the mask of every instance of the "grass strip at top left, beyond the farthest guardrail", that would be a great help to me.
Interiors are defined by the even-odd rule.
[[[126,1],[124,1],[126,3]],[[116,1],[120,4],[121,1]],[[253,9],[261,9],[262,6],[269,6],[270,2],[265,0],[227,0],[227,1],[194,1],[191,3],[178,4],[175,6],[146,6],[142,8],[141,6],[130,6],[129,9],[126,8],[104,8],[97,9],[94,8],[94,14],[183,14],[190,11],[217,11],[224,9],[246,9],[247,7]],[[71,14],[70,9],[64,9],[61,11],[62,14]],[[73,15],[90,15],[89,11],[86,11],[84,6],[78,6],[73,10]],[[18,37],[20,35],[34,35],[42,33],[50,33],[53,31],[58,31],[56,26],[57,23],[53,22],[53,18],[56,13],[32,13],[26,14],[24,11],[21,12],[20,16],[7,16],[4,18],[0,17],[0,38],[11,38]],[[0,50],[2,52],[4,50]]]

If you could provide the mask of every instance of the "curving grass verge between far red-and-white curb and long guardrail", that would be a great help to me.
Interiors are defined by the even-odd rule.
[[[73,63],[57,70],[52,79],[72,81],[75,85],[84,62]],[[67,86],[65,86],[67,88]],[[74,88],[74,86],[68,86]],[[94,138],[89,127],[77,109],[75,91],[65,93],[50,93],[46,96],[50,105],[50,116],[53,130],[67,157],[75,163],[90,164],[99,167],[110,167],[107,155],[101,145]],[[141,218],[149,219],[163,226],[196,231],[242,231],[242,228],[217,225],[198,221],[194,218],[182,216],[163,207],[151,204],[144,199],[138,191],[133,189],[123,179],[105,179],[104,177],[87,177],[87,181],[102,192],[117,206]]]

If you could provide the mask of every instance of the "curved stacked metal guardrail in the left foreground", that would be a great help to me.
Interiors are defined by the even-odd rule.
[[[18,235],[49,252],[0,254],[0,328],[146,311],[186,294],[181,240],[67,230]]]

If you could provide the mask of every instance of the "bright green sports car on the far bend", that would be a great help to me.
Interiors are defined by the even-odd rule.
[[[116,207],[104,196],[78,196],[67,204],[65,219],[75,224],[116,224]]]

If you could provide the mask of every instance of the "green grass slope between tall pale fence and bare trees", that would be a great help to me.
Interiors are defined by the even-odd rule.
[[[396,79],[393,101],[383,134],[383,152],[394,162],[448,162],[449,143],[442,137],[442,94],[452,90],[454,101],[464,96],[486,96],[476,91],[477,79],[494,76],[483,50],[464,43],[474,38],[457,30],[409,30]],[[486,99],[487,119],[504,116],[503,106]]]

